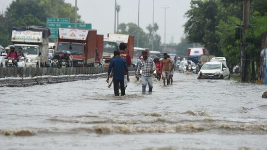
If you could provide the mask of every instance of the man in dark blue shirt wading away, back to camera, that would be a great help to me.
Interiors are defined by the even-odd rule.
[[[125,87],[124,87],[124,70],[126,71],[127,81],[129,82],[129,73],[128,66],[126,64],[125,59],[120,57],[120,52],[118,50],[114,51],[114,58],[109,62],[108,66],[108,78],[107,83],[109,81],[110,72],[113,69],[113,87],[115,96],[119,96],[118,89],[120,84],[120,95],[125,95]]]

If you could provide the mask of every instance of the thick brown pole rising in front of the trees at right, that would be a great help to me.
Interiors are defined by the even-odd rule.
[[[249,65],[250,65],[250,58],[246,51],[247,46],[247,30],[249,29],[250,25],[250,0],[244,0],[243,3],[243,38],[241,41],[241,58],[242,58],[242,82],[249,81]]]

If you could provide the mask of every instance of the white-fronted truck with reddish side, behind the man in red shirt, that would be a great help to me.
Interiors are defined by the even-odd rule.
[[[105,67],[108,67],[109,61],[113,57],[114,50],[119,50],[118,46],[121,42],[127,45],[125,51],[130,54],[131,60],[133,62],[134,36],[128,34],[108,33],[108,36],[104,37],[104,42],[103,42],[103,59],[105,60]]]

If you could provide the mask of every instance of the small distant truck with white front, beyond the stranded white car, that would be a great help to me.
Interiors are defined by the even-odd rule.
[[[198,63],[200,61],[200,55],[206,54],[205,48],[188,48],[187,49],[188,56],[187,60],[192,60],[194,63]]]

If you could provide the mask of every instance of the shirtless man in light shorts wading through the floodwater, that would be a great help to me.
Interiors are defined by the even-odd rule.
[[[170,74],[170,66],[173,66],[174,63],[170,58],[167,58],[167,53],[163,53],[164,58],[161,60],[162,66],[162,79],[163,79],[163,85],[166,86],[166,79],[167,79],[167,85],[169,84],[169,74]],[[170,65],[171,64],[171,65]]]

